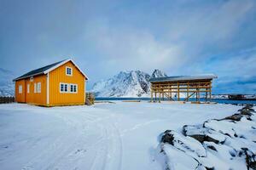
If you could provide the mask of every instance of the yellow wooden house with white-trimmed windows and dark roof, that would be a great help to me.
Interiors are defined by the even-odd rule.
[[[15,100],[33,105],[84,105],[88,77],[72,59],[15,78]]]

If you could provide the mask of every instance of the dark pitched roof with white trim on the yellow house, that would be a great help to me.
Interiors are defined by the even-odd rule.
[[[33,76],[37,76],[37,75],[41,75],[41,74],[47,74],[49,71],[53,71],[55,70],[55,68],[61,66],[61,65],[64,65],[65,63],[67,63],[68,61],[71,61],[73,62],[72,59],[64,59],[64,60],[61,60],[61,61],[58,61],[58,62],[55,62],[51,65],[46,65],[44,67],[41,67],[41,68],[38,68],[38,69],[35,69],[35,70],[32,70],[32,71],[29,71],[27,72],[26,74],[20,76],[20,77],[17,77],[14,79],[14,81],[17,81],[17,80],[20,80],[20,79],[24,79],[24,78],[27,78],[27,77],[33,77]],[[88,80],[88,77],[84,74],[83,71],[80,70],[79,66],[76,65],[74,62],[73,64],[79,69],[79,71],[84,75],[84,77],[86,78],[86,80]]]

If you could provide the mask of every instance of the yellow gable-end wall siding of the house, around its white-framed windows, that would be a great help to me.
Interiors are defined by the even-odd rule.
[[[66,75],[66,66],[73,68],[72,76]],[[61,94],[60,82],[77,84],[77,94]],[[84,105],[84,95],[85,77],[72,62],[69,61],[49,72],[49,105]]]

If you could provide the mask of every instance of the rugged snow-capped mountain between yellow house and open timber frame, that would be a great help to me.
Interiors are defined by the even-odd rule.
[[[150,77],[166,76],[155,70],[150,76],[143,71],[120,71],[119,74],[96,82],[91,90],[96,97],[148,97],[150,94]]]

